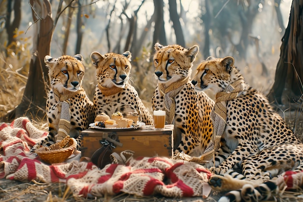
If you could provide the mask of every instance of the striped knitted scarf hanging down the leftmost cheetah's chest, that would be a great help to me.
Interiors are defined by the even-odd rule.
[[[59,142],[70,133],[71,112],[69,99],[74,97],[77,92],[68,91],[68,93],[61,94],[57,89],[53,89],[53,92],[60,113],[58,134],[55,136],[56,142]]]

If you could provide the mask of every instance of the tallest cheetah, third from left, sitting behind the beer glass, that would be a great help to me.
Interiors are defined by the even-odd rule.
[[[166,124],[174,124],[176,154],[201,155],[212,136],[210,113],[214,102],[206,93],[195,92],[190,80],[199,48],[159,43],[154,48],[158,85],[152,97],[152,109],[165,110]]]

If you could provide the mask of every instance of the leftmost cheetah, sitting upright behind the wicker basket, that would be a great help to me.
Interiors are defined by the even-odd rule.
[[[51,87],[46,99],[49,134],[45,140],[34,145],[31,152],[42,145],[50,146],[55,142],[55,135],[59,133],[60,111],[63,106],[61,101],[64,100],[69,103],[70,133],[68,135],[76,139],[76,149],[81,151],[80,133],[89,127],[94,118],[92,102],[82,87],[85,73],[82,55],[77,54],[74,57],[64,55],[58,59],[46,55],[44,61],[49,70]]]

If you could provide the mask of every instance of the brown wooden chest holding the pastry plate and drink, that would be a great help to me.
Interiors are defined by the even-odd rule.
[[[107,133],[107,134],[105,134]],[[113,152],[120,154],[124,150],[135,152],[134,157],[138,156],[167,156],[171,157],[173,127],[167,125],[166,128],[153,130],[151,128],[139,128],[135,130],[104,131],[99,129],[87,129],[81,132],[81,155],[91,157],[91,155],[102,146],[101,141],[106,135],[115,133],[121,146],[113,149]]]

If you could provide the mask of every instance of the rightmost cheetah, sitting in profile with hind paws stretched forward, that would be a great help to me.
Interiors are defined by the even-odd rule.
[[[269,104],[268,99],[244,82],[234,58],[201,62],[192,83],[195,91],[211,89],[216,104],[226,106],[222,138],[231,154],[212,168],[209,184],[217,191],[230,191],[219,202],[258,201],[271,196],[275,179],[285,171],[303,170],[303,143]],[[224,111],[224,110],[222,110]],[[242,174],[231,177],[233,167]],[[240,178],[239,178],[240,176]]]

